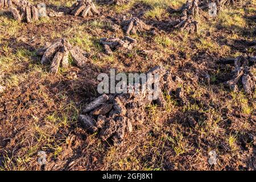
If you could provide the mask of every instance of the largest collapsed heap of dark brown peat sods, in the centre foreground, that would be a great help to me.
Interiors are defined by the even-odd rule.
[[[159,75],[158,98],[148,99],[147,90],[137,94],[102,94],[90,102],[83,110],[83,114],[79,115],[79,122],[84,129],[91,134],[98,132],[102,140],[112,140],[114,146],[118,146],[122,144],[126,133],[131,132],[134,126],[143,124],[146,105],[153,102],[159,106],[166,105],[163,90],[169,89],[170,74],[162,67],[154,67],[147,73]],[[147,77],[147,84],[156,83]]]

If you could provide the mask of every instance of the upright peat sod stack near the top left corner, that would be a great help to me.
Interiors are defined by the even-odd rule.
[[[39,19],[38,9],[25,0],[13,1],[11,6],[9,6],[9,10],[18,22],[25,20],[27,23],[32,23]]]

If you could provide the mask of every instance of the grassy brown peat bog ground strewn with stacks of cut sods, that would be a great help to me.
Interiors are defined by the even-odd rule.
[[[85,3],[84,17],[71,13],[76,1],[29,2],[55,16],[18,22],[0,6],[0,169],[256,169],[255,1],[220,4],[214,17],[205,1],[93,1],[97,13]],[[61,43],[48,52],[54,64],[41,64],[56,40],[70,44],[68,58]],[[114,96],[85,112],[100,96],[100,73],[158,66],[168,73],[160,103]],[[103,129],[89,132],[80,114]]]

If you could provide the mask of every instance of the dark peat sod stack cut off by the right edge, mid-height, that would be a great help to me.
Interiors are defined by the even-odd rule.
[[[256,77],[253,75],[253,69],[256,69],[256,57],[238,56],[236,59],[221,60],[220,63],[234,65],[231,78],[224,82],[224,85],[229,86],[234,92],[237,92],[237,84],[240,82],[243,85],[245,93],[253,93],[256,82]]]

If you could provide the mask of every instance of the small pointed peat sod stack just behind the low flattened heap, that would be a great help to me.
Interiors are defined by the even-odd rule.
[[[137,34],[138,32],[148,31],[152,28],[137,17],[123,20],[122,27],[126,35]]]

